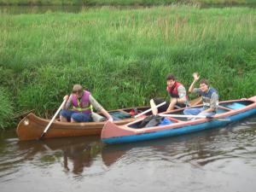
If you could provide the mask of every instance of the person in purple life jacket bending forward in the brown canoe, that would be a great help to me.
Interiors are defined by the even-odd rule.
[[[63,99],[67,102],[60,113],[61,122],[70,121],[74,123],[90,121],[92,107],[96,108],[96,111],[101,112],[108,120],[113,121],[110,114],[96,102],[96,99],[91,96],[89,91],[83,90],[80,84],[73,85],[73,93],[70,96],[64,96]]]

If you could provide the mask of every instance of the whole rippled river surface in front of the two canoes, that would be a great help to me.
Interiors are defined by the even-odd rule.
[[[1,191],[256,189],[256,117],[225,128],[104,146],[99,137],[19,142],[0,135]]]

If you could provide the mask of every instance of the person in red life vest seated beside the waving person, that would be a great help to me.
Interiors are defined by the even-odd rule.
[[[186,89],[183,84],[176,81],[174,75],[168,74],[166,77],[166,90],[171,96],[170,102],[166,102],[165,105],[161,106],[160,108],[155,108],[156,105],[165,102],[162,98],[154,98],[150,100],[151,108],[153,114],[157,114],[158,112],[168,112],[171,111],[175,106],[180,108],[185,108],[189,106],[188,96],[186,94]]]

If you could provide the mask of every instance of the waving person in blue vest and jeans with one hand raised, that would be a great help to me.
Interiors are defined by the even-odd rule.
[[[206,115],[212,116],[218,110],[218,92],[209,87],[207,79],[201,79],[200,88],[194,88],[195,83],[200,79],[198,73],[193,73],[194,81],[189,87],[189,93],[202,96],[203,108],[186,108],[183,113],[186,115]]]

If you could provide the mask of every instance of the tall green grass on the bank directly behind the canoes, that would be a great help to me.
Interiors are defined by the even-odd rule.
[[[256,95],[255,9],[1,14],[0,27],[1,126],[14,111],[50,116],[75,83],[107,109],[166,96],[167,73],[188,89],[198,71],[221,100]]]

